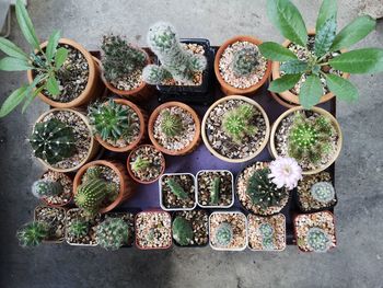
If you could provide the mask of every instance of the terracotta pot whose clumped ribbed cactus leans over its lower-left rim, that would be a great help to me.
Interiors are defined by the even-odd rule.
[[[96,160],[96,161],[90,162],[86,165],[82,166],[76,173],[76,176],[73,180],[73,195],[77,194],[78,187],[81,185],[81,178],[82,178],[83,174],[86,172],[86,170],[91,166],[96,166],[96,165],[103,165],[103,166],[108,166],[108,168],[113,169],[113,171],[116,172],[118,177],[119,177],[120,184],[119,184],[119,193],[118,193],[117,198],[112,204],[100,209],[100,211],[98,211],[101,214],[106,214],[106,212],[113,210],[114,208],[116,208],[123,201],[129,199],[135,194],[134,183],[129,178],[129,176],[125,170],[125,166],[121,163],[118,163],[116,161]]]

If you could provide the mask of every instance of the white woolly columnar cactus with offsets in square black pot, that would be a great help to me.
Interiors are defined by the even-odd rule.
[[[213,51],[207,39],[182,39],[165,22],[152,25],[148,46],[158,57],[156,65],[143,69],[143,80],[156,85],[160,103],[170,100],[206,104],[212,73]]]

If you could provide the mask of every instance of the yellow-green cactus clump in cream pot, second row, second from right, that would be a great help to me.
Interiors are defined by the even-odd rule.
[[[249,104],[240,105],[227,112],[222,119],[222,129],[235,142],[242,143],[244,137],[257,133],[257,127],[252,124],[255,110]]]

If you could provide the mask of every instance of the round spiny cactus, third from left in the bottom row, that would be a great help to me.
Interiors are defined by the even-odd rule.
[[[107,218],[97,226],[96,240],[106,250],[118,250],[128,243],[129,224],[120,218]]]

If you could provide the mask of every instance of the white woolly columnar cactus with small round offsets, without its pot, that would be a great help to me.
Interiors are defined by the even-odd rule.
[[[195,73],[206,69],[206,57],[184,49],[169,23],[160,22],[149,28],[148,45],[161,62],[161,66],[149,65],[143,69],[143,80],[149,84],[162,84],[169,79],[193,84]]]

